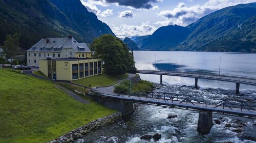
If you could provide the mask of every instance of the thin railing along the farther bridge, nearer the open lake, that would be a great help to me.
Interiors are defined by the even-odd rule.
[[[152,72],[165,72],[165,73],[182,73],[182,74],[201,74],[201,75],[210,75],[210,76],[225,76],[225,77],[237,77],[237,78],[246,78],[251,80],[256,80],[256,77],[242,76],[242,75],[233,75],[233,74],[217,74],[217,73],[202,73],[202,72],[184,72],[184,71],[165,71],[165,70],[145,70],[138,69],[138,71],[152,71]]]

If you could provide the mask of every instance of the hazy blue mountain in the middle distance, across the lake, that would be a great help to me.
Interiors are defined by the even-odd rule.
[[[189,28],[169,25],[158,28],[141,45],[142,50],[172,50],[189,35]]]

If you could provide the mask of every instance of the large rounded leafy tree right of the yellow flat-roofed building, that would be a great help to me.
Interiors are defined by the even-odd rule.
[[[113,35],[107,34],[96,38],[91,50],[94,58],[102,58],[104,61],[103,68],[106,74],[122,74],[135,68],[129,48]]]

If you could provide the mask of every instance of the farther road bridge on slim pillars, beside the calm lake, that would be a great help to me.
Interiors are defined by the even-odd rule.
[[[160,75],[160,83],[162,83],[163,75],[195,78],[195,87],[198,87],[199,78],[208,79],[208,80],[234,82],[236,83],[236,93],[239,93],[240,84],[256,86],[256,78],[246,77],[246,76],[237,76],[237,75],[191,73],[191,72],[177,72],[177,71],[157,71],[157,70],[138,70],[138,73]]]

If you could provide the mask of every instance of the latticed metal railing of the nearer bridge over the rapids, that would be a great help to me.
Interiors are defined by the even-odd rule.
[[[194,96],[191,95],[180,95],[180,94],[171,94],[171,93],[161,93],[161,92],[138,92],[129,96],[130,98],[138,98],[145,99],[151,101],[164,101],[171,103],[182,103],[182,104],[190,104],[194,106],[202,106],[202,107],[213,107],[213,108],[222,108],[222,109],[230,109],[237,111],[247,111],[247,112],[256,112],[256,106],[249,105],[244,101],[239,101],[239,103],[229,101],[227,99],[223,99],[218,103],[212,103],[210,101],[199,101]],[[256,105],[256,102],[255,102]]]

